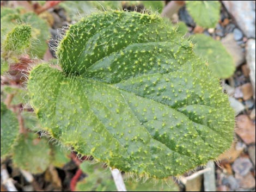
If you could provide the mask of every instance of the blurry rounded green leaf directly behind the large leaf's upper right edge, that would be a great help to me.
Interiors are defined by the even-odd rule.
[[[235,64],[231,55],[226,51],[220,41],[204,34],[192,36],[194,52],[208,61],[210,70],[218,78],[228,78],[235,72]]]

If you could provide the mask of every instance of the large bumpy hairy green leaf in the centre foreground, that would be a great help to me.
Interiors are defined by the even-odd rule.
[[[70,27],[62,71],[31,71],[31,104],[52,137],[112,168],[165,178],[215,159],[234,112],[217,78],[156,15],[113,11]]]

